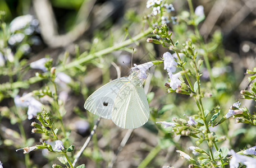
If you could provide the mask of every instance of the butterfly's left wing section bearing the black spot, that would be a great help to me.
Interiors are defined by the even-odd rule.
[[[129,81],[127,77],[123,77],[103,85],[88,97],[84,108],[102,118],[112,119],[114,101],[119,90],[127,81]]]

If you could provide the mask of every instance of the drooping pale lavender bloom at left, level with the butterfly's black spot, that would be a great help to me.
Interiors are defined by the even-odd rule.
[[[34,97],[31,97],[28,100],[28,102],[29,102],[28,119],[31,120],[34,116],[36,116],[39,112],[42,111],[43,105]]]

